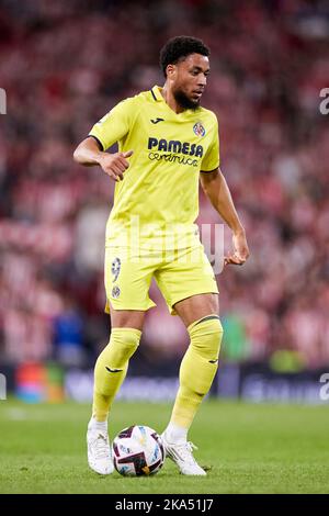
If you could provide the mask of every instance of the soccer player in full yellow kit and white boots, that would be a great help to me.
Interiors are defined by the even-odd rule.
[[[88,425],[89,465],[113,471],[107,417],[128,361],[136,351],[155,277],[172,314],[181,317],[191,343],[180,367],[180,386],[162,434],[167,456],[186,475],[205,475],[193,457],[188,431],[215,377],[223,328],[213,269],[194,221],[198,180],[232,232],[225,263],[249,256],[243,226],[219,169],[216,115],[200,105],[209,74],[209,49],[179,36],[161,49],[162,88],[154,86],[115,105],[75,152],[81,165],[99,165],[115,184],[106,225],[105,290],[111,338],[94,369],[92,416]],[[115,142],[118,152],[106,149]]]

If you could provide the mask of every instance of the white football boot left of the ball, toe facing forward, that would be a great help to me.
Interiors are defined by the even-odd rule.
[[[111,474],[114,471],[112,451],[107,430],[95,428],[91,418],[87,431],[88,463],[99,474]]]

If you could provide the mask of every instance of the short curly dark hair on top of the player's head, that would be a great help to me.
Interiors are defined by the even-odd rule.
[[[167,77],[167,66],[175,65],[180,59],[184,59],[190,54],[201,54],[209,56],[209,48],[197,37],[177,36],[169,40],[160,51],[160,67]]]

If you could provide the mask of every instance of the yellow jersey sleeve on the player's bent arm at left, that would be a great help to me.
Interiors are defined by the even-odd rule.
[[[133,114],[134,98],[123,100],[94,124],[89,136],[93,136],[106,150],[129,132]]]

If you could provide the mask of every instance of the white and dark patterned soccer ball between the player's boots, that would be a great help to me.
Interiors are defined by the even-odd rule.
[[[124,476],[156,474],[164,461],[160,436],[144,425],[121,430],[113,440],[112,451],[114,467]]]

